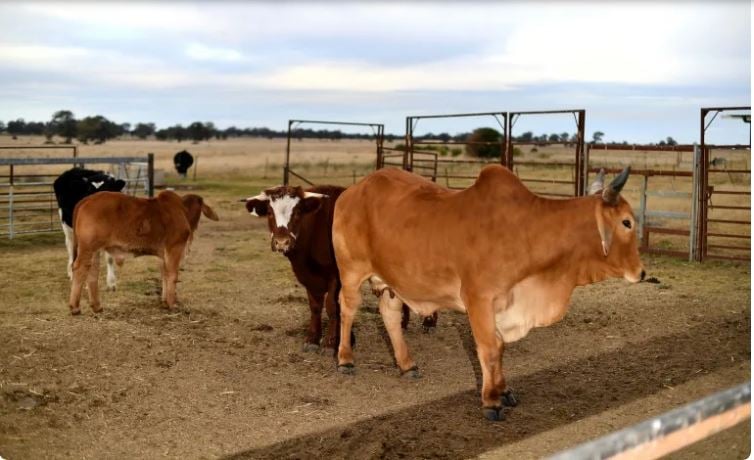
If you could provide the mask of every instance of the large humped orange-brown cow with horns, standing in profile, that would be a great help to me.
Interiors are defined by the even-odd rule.
[[[501,403],[517,403],[503,376],[505,344],[560,320],[576,286],[644,277],[631,206],[619,194],[628,174],[597,195],[566,200],[533,194],[499,165],[462,191],[398,169],[367,176],[335,206],[341,338],[351,333],[361,284],[373,276],[395,293],[383,294],[380,313],[402,373],[416,373],[400,328],[403,302],[425,316],[440,308],[467,312],[483,414],[501,420]],[[341,340],[338,369],[352,373],[353,362],[350,343]]]

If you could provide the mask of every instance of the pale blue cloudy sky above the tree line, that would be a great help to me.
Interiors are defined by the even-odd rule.
[[[0,2],[0,120],[72,110],[158,127],[586,109],[604,140],[699,139],[751,104],[748,1]],[[422,120],[417,134],[498,127]],[[311,125],[315,129],[327,126]],[[572,115],[521,117],[573,133]],[[344,129],[344,131],[349,131]],[[718,117],[715,143],[748,143]]]

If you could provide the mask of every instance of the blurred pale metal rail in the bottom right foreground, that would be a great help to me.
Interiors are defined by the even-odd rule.
[[[560,452],[549,460],[655,459],[751,418],[751,382]]]

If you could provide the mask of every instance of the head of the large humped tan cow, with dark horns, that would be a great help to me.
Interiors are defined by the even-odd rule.
[[[636,283],[645,275],[639,258],[636,219],[631,205],[620,195],[630,172],[631,168],[626,167],[605,187],[605,171],[600,170],[589,192],[600,197],[596,200],[595,217],[607,272]]]

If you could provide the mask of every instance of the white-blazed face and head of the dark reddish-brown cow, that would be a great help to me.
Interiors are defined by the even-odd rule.
[[[246,199],[246,209],[253,216],[267,216],[270,228],[270,247],[275,252],[288,253],[296,246],[301,234],[304,214],[316,212],[327,195],[305,192],[301,187],[281,185],[269,188]]]

